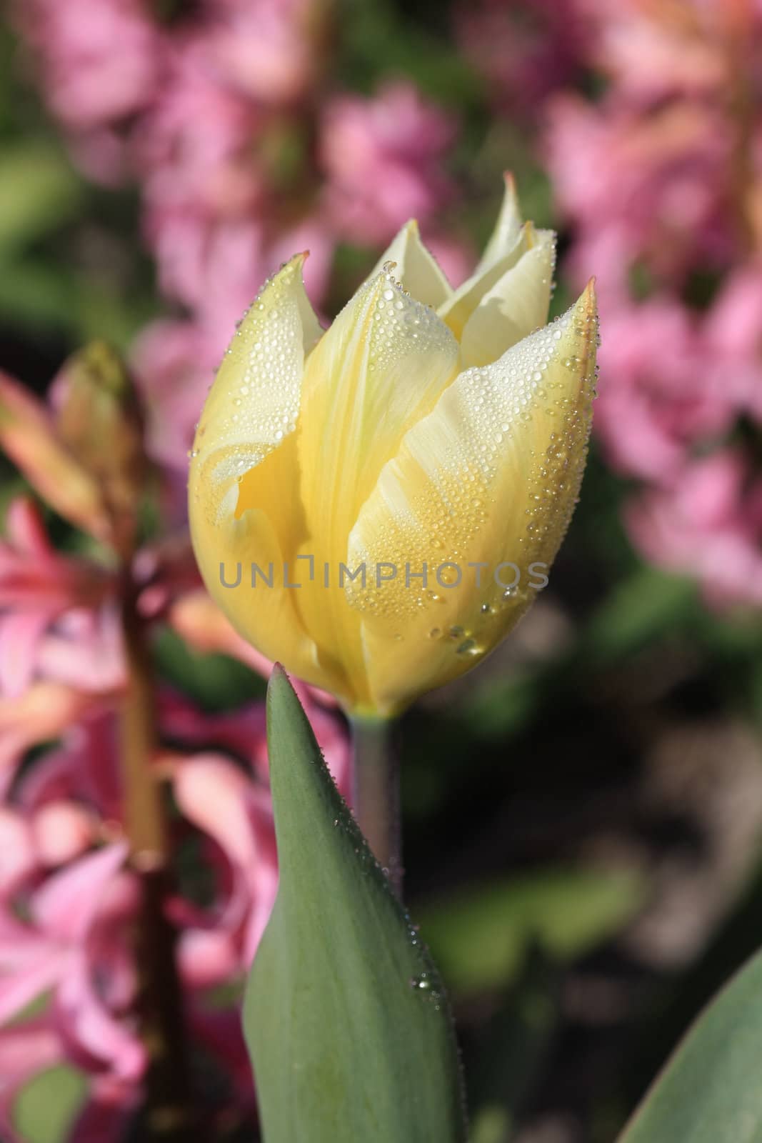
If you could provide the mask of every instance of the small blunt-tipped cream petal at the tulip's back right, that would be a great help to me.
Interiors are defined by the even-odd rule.
[[[537,231],[538,242],[489,289],[460,337],[464,369],[489,365],[547,321],[555,263],[555,234]]]

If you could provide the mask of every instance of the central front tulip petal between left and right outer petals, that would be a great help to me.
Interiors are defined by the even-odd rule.
[[[391,273],[362,286],[345,306],[305,369],[298,467],[307,537],[300,554],[336,574],[360,506],[407,430],[455,378],[458,358],[451,333]],[[343,590],[316,577],[291,594],[321,663],[343,671],[356,692],[364,677],[360,628]]]

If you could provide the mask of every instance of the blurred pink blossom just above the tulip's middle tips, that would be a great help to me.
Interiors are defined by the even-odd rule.
[[[320,153],[337,232],[372,245],[408,218],[428,219],[452,194],[442,160],[455,131],[408,82],[387,83],[370,99],[335,96],[323,111]]]

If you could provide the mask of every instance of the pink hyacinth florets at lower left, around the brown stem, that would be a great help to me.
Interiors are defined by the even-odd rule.
[[[346,790],[346,735],[304,688],[300,698]],[[203,906],[182,890],[167,902],[179,928],[189,1023],[194,1042],[234,1078],[243,1106],[251,1087],[240,1031],[228,1018],[233,1014],[209,1007],[207,993],[242,978],[278,887],[264,708],[250,704],[208,717],[162,693],[159,725],[171,744],[157,751],[154,766],[179,812],[174,847],[193,841],[211,886]],[[21,1015],[42,992],[51,996],[43,1024],[0,1031],[0,1057],[6,1045],[21,1052],[29,1042],[31,1065],[75,1063],[93,1079],[89,1114],[115,1125],[138,1098],[145,1069],[133,1015],[130,932],[139,884],[125,864],[122,815],[118,725],[110,701],[62,728],[61,743],[18,777],[13,798],[0,807],[0,1023]],[[18,1082],[26,1074],[21,1068]],[[9,1086],[9,1096],[14,1090]],[[7,1112],[2,1094],[0,1116]]]

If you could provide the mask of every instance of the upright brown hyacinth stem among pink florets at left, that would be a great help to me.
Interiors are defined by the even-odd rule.
[[[165,906],[169,896],[168,844],[157,750],[154,684],[144,624],[125,576],[122,638],[127,685],[120,717],[120,761],[130,863],[141,881],[136,933],[141,1036],[146,1046],[142,1138],[189,1143],[195,1136],[183,991],[175,956],[175,929]]]

